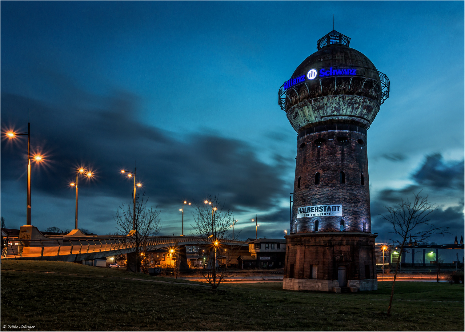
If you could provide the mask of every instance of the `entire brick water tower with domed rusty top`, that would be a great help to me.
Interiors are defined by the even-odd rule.
[[[366,130],[389,96],[389,79],[349,43],[328,33],[279,89],[298,133],[285,289],[378,288]]]

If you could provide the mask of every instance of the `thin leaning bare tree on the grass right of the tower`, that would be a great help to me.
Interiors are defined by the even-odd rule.
[[[396,241],[399,242],[400,253],[403,252],[405,243],[410,237],[415,242],[423,242],[432,234],[446,234],[448,227],[436,227],[430,219],[431,214],[436,210],[432,202],[428,202],[428,196],[420,196],[421,191],[415,195],[413,202],[408,199],[397,204],[398,208],[386,207],[387,214],[381,215],[381,219],[385,219],[392,224],[393,231],[389,232],[398,236]],[[397,260],[396,270],[394,272],[394,280],[392,281],[391,299],[387,308],[387,314],[391,312],[392,298],[394,296],[394,284],[396,282],[397,272],[399,270],[400,256]]]

